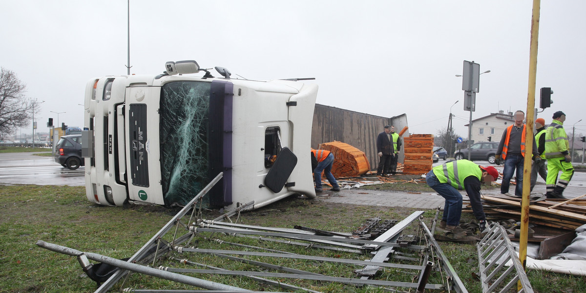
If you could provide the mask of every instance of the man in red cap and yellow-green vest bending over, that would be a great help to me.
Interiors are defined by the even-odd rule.
[[[479,166],[468,160],[450,161],[435,166],[425,175],[425,181],[445,199],[444,214],[438,227],[455,234],[465,231],[459,227],[462,216],[462,195],[466,190],[474,217],[479,221],[481,232],[486,228],[486,215],[481,202],[481,180],[489,183],[499,178],[493,166]]]

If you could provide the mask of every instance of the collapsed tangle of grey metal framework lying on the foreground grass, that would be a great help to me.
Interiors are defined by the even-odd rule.
[[[205,193],[210,190],[220,178],[222,178],[222,173],[220,173],[216,179],[210,182],[210,184],[206,186],[206,188],[202,190],[202,192],[200,192],[200,194],[197,195],[192,200],[192,202],[190,202],[175,217],[173,217],[173,219],[165,224],[165,226],[163,226],[163,228],[159,230],[158,233],[156,233],[155,236],[151,238],[151,240],[144,244],[144,246],[142,246],[142,248],[134,254],[130,261],[125,262],[116,260],[115,265],[120,265],[122,270],[118,270],[110,279],[104,282],[104,284],[101,285],[96,292],[107,291],[114,284],[116,284],[117,281],[124,276],[124,274],[127,274],[130,271],[141,274],[154,275],[156,277],[165,278],[166,280],[194,285],[200,288],[207,288],[209,290],[205,292],[209,293],[243,291],[244,289],[235,287],[234,284],[238,284],[237,282],[230,282],[231,285],[225,285],[219,282],[206,281],[177,273],[196,273],[203,274],[204,276],[209,275],[210,277],[211,275],[224,275],[226,277],[231,275],[238,278],[238,280],[240,280],[241,277],[245,277],[249,278],[250,280],[254,280],[262,284],[268,284],[281,289],[292,291],[308,291],[314,293],[318,293],[318,291],[300,287],[297,282],[299,282],[299,284],[312,283],[315,281],[339,282],[340,284],[374,287],[381,291],[398,291],[396,287],[400,287],[416,288],[417,292],[422,292],[424,289],[441,289],[443,291],[448,290],[458,293],[467,293],[464,285],[462,285],[461,281],[459,280],[458,275],[451,267],[451,264],[449,264],[449,261],[433,239],[433,234],[430,233],[430,231],[427,229],[427,226],[425,226],[425,223],[423,223],[423,220],[421,219],[423,211],[414,212],[410,216],[406,217],[406,219],[403,219],[401,222],[394,224],[393,227],[390,227],[389,230],[385,231],[374,240],[355,239],[352,238],[350,233],[325,233],[329,234],[329,236],[324,236],[322,230],[316,229],[312,229],[313,231],[305,231],[299,229],[250,226],[221,221],[224,219],[230,220],[230,215],[233,216],[239,214],[233,212],[229,212],[229,214],[211,221],[199,219],[199,215],[197,219],[193,219],[196,215],[195,207],[197,200],[200,200],[200,198],[205,195]],[[250,205],[252,204],[253,203],[250,203]],[[246,206],[248,206],[248,204],[244,205],[243,208]],[[187,220],[188,217],[186,215],[190,209],[193,209],[193,211],[189,216],[189,220]],[[418,234],[421,236],[407,237],[408,239],[413,239],[413,242],[411,242],[411,240],[406,240],[402,241],[403,243],[396,243],[397,239],[401,236],[401,233],[403,233],[403,230],[405,230],[407,227],[410,227],[411,224],[413,224],[417,219],[419,219],[419,222],[415,225],[417,227],[414,227],[414,229],[417,230],[417,233],[411,233],[410,231],[409,234]],[[187,220],[187,222],[185,222],[185,220]],[[169,231],[172,231],[172,233],[168,233]],[[185,234],[182,234],[181,231],[184,231]],[[347,237],[343,237],[343,235],[346,234]],[[165,237],[165,239],[163,239],[163,237]],[[223,239],[220,239],[220,237]],[[287,251],[275,250],[274,247],[268,248],[261,247],[260,245],[248,245],[250,244],[250,240],[248,240],[248,244],[236,243],[236,241],[233,239],[239,239],[239,237],[255,239],[258,240],[258,243],[261,243],[261,241],[274,241],[275,243],[280,242],[286,244],[302,245],[311,249],[302,250],[306,251],[307,254],[305,254],[305,252],[303,254],[289,253]],[[229,241],[224,239],[228,239]],[[205,249],[200,247],[188,247],[192,241],[197,246],[202,246],[202,244],[205,244],[203,247],[230,247],[231,249]],[[415,241],[419,241],[419,244],[423,243],[423,245],[416,245],[417,243]],[[46,243],[42,243],[40,240],[39,246],[45,248],[48,247]],[[242,250],[234,250],[234,247],[239,247]],[[145,264],[148,263],[153,267],[158,267],[158,269],[146,267],[145,265],[139,263],[131,263],[144,258],[144,256],[147,254],[147,250],[151,248],[156,248],[156,253],[149,255],[149,258],[147,261],[145,261]],[[323,253],[323,251],[316,251],[317,253],[311,253],[317,248],[335,251],[335,257],[323,257],[316,255],[318,253]],[[63,248],[64,251],[74,251],[73,253],[66,254],[77,256],[79,253],[81,253],[80,251],[70,249],[71,248]],[[350,257],[343,257],[343,255],[340,255],[342,253],[337,254],[341,251],[350,253],[352,255],[350,255]],[[408,253],[406,253],[406,251],[408,251]],[[193,253],[197,253],[199,256],[196,256]],[[91,259],[96,261],[104,261],[107,258],[103,255],[94,257],[96,255],[91,253],[83,254],[88,255],[88,257],[93,256]],[[178,254],[182,255],[181,258],[175,257]],[[372,258],[370,260],[366,259],[365,254],[372,254]],[[188,258],[186,258],[188,255],[202,260],[205,259],[207,262],[212,260],[213,265],[210,263],[201,264],[204,261],[200,261],[200,263],[190,261]],[[212,255],[212,257],[209,255]],[[235,255],[247,255],[248,257],[237,257]],[[160,259],[157,259],[158,257],[160,257]],[[262,257],[263,260],[249,259],[256,257]],[[248,268],[248,270],[230,270],[227,268],[220,268],[217,266],[216,260],[217,263],[226,263],[226,261],[220,261],[220,258],[225,258],[226,260],[231,261],[232,263],[229,263],[231,268],[240,268],[239,265],[233,264],[243,263],[246,264],[243,267]],[[163,259],[166,260],[165,263],[161,263]],[[270,259],[270,261],[273,261],[273,263],[265,261],[267,259]],[[107,261],[110,262],[109,259]],[[343,267],[340,267],[342,270],[347,270],[347,272],[354,272],[360,278],[338,277],[327,275],[323,271],[319,271],[321,272],[320,274],[318,272],[309,272],[305,270],[298,270],[297,268],[292,268],[294,265],[287,266],[288,262],[291,264],[297,264],[298,261],[315,262],[316,265],[321,265],[321,263],[333,263],[340,266],[343,265]],[[204,269],[199,270],[185,267],[173,267],[178,265],[199,265]],[[258,268],[254,268],[254,266]],[[358,269],[360,266],[363,266],[362,270]],[[250,268],[253,269],[250,270]],[[159,272],[155,274],[154,271]],[[440,274],[439,276],[436,274],[438,271]],[[379,275],[379,272],[386,274],[386,276],[383,275],[384,277],[381,278],[382,280],[377,280],[377,275]],[[447,278],[444,278],[444,272],[447,275]],[[402,279],[410,279],[411,282],[400,279],[388,280],[389,275],[391,274],[396,275],[397,277],[400,277],[401,275],[406,276],[406,278]],[[129,274],[127,274],[127,278],[128,275]],[[183,277],[178,277],[177,275]],[[296,282],[296,284],[287,284],[283,282],[284,279],[291,279],[292,282]],[[202,282],[200,280],[206,282]],[[440,284],[428,284],[430,280],[432,282],[440,280]],[[120,285],[121,288],[127,287],[125,282]],[[202,287],[203,285],[206,287]],[[200,289],[165,291],[162,289],[148,290],[125,288],[121,290],[124,292],[203,292],[203,290]]]

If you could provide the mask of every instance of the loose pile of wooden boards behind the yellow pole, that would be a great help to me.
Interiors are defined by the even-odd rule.
[[[482,199],[488,220],[521,219],[521,199],[506,195],[483,195]],[[533,197],[529,204],[529,223],[573,231],[586,224],[586,199]]]

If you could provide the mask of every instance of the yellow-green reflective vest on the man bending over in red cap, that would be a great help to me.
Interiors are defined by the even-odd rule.
[[[468,160],[447,162],[441,166],[435,166],[432,171],[441,183],[449,183],[458,190],[464,190],[464,179],[468,176],[482,179],[482,170],[476,163]]]

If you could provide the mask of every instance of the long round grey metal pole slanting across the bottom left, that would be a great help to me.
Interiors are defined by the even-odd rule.
[[[250,291],[247,289],[233,287],[230,285],[206,281],[182,274],[176,274],[175,272],[162,271],[156,268],[145,267],[144,265],[128,263],[128,261],[118,260],[116,258],[107,257],[105,255],[97,253],[84,253],[73,248],[60,246],[53,243],[47,243],[42,240],[38,240],[36,244],[40,247],[46,248],[47,250],[55,251],[57,253],[73,255],[76,257],[79,257],[80,255],[86,255],[87,258],[89,258],[90,260],[99,261],[100,263],[114,265],[114,267],[123,268],[124,270],[135,271],[141,274],[150,275],[152,277],[158,277],[173,282],[180,282],[182,284],[188,284],[199,288],[205,288],[210,290]]]

